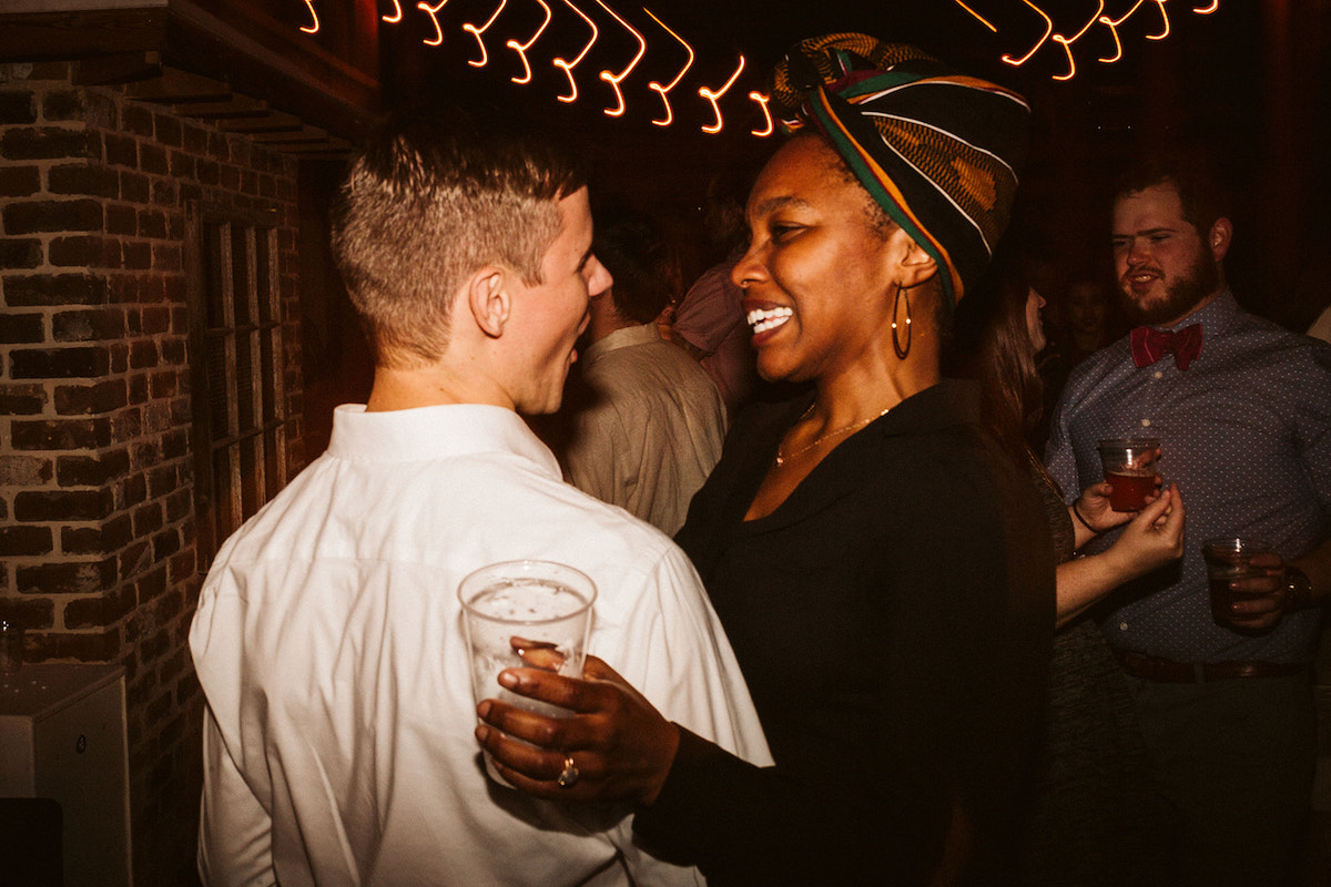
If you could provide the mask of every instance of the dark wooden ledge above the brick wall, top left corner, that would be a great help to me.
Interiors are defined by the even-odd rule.
[[[120,86],[287,153],[345,152],[378,117],[377,56],[350,64],[287,35],[264,15],[268,0],[221,11],[213,0],[128,1],[60,11],[63,0],[0,0],[0,61],[73,61],[79,85]]]

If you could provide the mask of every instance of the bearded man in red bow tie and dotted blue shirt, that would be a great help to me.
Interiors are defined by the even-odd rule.
[[[1130,684],[1169,810],[1171,884],[1291,883],[1316,761],[1311,661],[1331,592],[1331,347],[1238,306],[1234,237],[1203,158],[1162,154],[1115,188],[1113,245],[1137,330],[1077,367],[1049,469],[1101,480],[1097,443],[1159,438],[1187,496],[1182,561],[1117,589],[1098,621]],[[1087,551],[1113,543],[1114,533]],[[1268,574],[1213,616],[1202,541],[1267,543]],[[1094,548],[1093,548],[1094,547]]]

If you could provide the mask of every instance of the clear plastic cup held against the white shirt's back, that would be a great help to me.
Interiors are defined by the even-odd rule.
[[[591,630],[596,585],[572,567],[522,560],[491,564],[462,580],[458,588],[463,626],[471,652],[471,690],[482,699],[499,699],[547,717],[570,711],[528,699],[499,686],[511,668],[539,668],[582,677]],[[488,753],[486,770],[495,773]],[[507,785],[507,783],[504,783]]]

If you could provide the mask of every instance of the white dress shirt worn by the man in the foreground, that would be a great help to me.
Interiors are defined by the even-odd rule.
[[[518,559],[587,573],[588,650],[666,717],[771,763],[697,574],[664,535],[563,483],[511,411],[345,406],[327,452],[226,541],[200,597],[205,883],[701,880],[639,850],[626,807],[535,801],[484,775],[457,589]]]

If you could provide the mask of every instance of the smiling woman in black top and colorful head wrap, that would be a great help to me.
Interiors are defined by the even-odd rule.
[[[527,791],[636,802],[643,844],[713,884],[1006,883],[1051,545],[940,346],[1006,223],[1028,109],[862,35],[801,43],[772,94],[795,137],[753,188],[733,279],[760,372],[808,391],[740,416],[677,541],[776,766],[664,723],[595,661],[591,681],[504,676],[578,715],[487,702],[498,730],[478,733]]]

